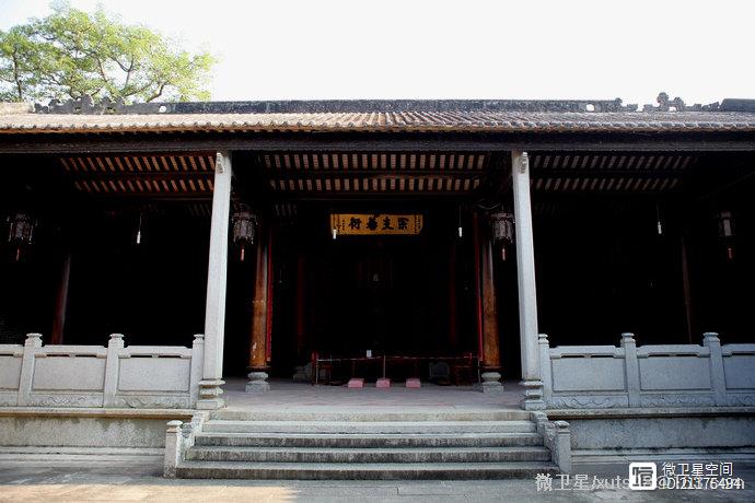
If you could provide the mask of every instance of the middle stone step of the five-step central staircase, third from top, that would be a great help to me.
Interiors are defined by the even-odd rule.
[[[198,433],[195,445],[245,447],[506,447],[541,446],[537,433],[437,433],[437,434],[317,434],[317,433]]]

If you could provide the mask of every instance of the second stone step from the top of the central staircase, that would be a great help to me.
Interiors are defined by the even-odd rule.
[[[210,420],[218,433],[532,433],[532,421],[223,421]]]

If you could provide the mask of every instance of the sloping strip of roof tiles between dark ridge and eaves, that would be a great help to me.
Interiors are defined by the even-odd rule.
[[[736,112],[373,112],[0,115],[0,133],[133,131],[716,132],[755,131]]]

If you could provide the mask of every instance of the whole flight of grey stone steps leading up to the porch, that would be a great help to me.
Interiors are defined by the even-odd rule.
[[[218,411],[175,476],[198,479],[504,479],[555,473],[528,412]]]

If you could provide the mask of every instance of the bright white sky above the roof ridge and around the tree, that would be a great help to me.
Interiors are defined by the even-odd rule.
[[[213,100],[755,98],[748,0],[70,3],[219,56]],[[48,4],[0,0],[0,30]]]

